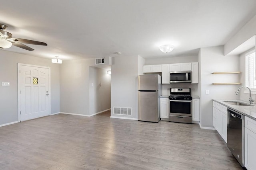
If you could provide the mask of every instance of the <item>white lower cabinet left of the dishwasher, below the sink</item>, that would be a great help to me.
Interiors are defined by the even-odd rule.
[[[227,143],[227,107],[213,101],[213,127]],[[215,107],[214,107],[215,106]]]

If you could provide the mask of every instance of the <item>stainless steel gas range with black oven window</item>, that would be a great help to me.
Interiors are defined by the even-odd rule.
[[[190,88],[171,88],[169,121],[192,123],[192,97]]]

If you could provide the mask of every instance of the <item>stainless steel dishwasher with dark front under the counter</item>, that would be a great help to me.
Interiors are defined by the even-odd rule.
[[[227,145],[239,164],[244,167],[244,115],[227,109]]]

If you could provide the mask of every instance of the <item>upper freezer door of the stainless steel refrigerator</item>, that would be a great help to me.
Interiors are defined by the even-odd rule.
[[[138,90],[158,90],[158,76],[158,74],[139,75]]]

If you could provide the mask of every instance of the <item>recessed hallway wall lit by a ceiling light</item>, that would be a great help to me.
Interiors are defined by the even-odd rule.
[[[107,74],[106,69],[90,66],[89,79],[90,115],[110,109],[111,74]]]

